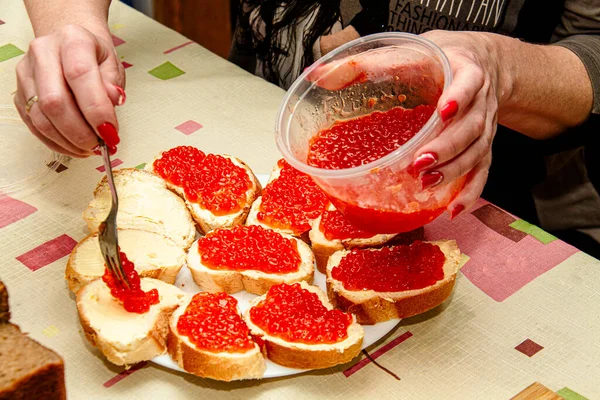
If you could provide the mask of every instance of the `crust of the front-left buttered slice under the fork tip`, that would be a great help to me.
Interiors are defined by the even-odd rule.
[[[104,283],[99,279],[95,282],[101,282],[101,284],[104,285]],[[166,285],[166,283],[163,283],[162,281],[158,282]],[[92,346],[100,350],[100,352],[108,361],[115,365],[125,365],[128,367],[141,361],[150,360],[166,351],[167,335],[169,332],[169,319],[179,304],[162,307],[154,321],[152,328],[148,330],[145,337],[141,340],[138,340],[136,345],[133,346],[131,350],[123,351],[119,349],[115,343],[107,340],[98,330],[93,328],[93,324],[86,313],[84,304],[87,301],[85,297],[86,290],[91,287],[92,284],[89,284],[83,287],[77,293],[77,311],[79,314],[79,321],[87,340]],[[108,290],[108,288],[106,290]],[[181,292],[181,298],[185,298],[185,294],[183,292]]]

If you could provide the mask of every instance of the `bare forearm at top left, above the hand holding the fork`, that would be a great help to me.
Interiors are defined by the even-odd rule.
[[[36,37],[65,25],[81,25],[92,33],[110,35],[108,8],[111,0],[24,0]]]

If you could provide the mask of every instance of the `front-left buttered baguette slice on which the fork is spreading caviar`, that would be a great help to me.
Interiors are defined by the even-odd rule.
[[[142,278],[141,288],[157,289],[160,298],[160,303],[144,314],[125,311],[101,279],[77,294],[79,321],[86,338],[113,364],[132,365],[163,354],[169,318],[187,297],[175,286],[152,278]]]

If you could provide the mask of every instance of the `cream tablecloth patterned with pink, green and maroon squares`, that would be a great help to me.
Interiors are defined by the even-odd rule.
[[[113,3],[128,82],[114,165],[140,166],[190,144],[268,173],[279,157],[273,126],[284,92]],[[14,67],[31,39],[22,2],[0,0],[0,104],[12,103]],[[150,363],[115,367],[85,341],[63,279],[86,235],[81,212],[100,166],[98,157],[71,160],[34,193],[0,198],[0,277],[13,320],[64,357],[72,399],[507,399],[536,381],[566,399],[600,398],[600,261],[484,200],[426,227],[428,239],[456,239],[465,254],[451,301],[402,321],[369,357],[229,384]]]

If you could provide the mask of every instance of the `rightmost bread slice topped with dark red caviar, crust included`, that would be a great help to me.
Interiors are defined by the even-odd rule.
[[[450,296],[460,259],[454,240],[340,250],[327,263],[327,293],[363,325],[407,318]]]

